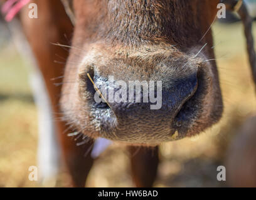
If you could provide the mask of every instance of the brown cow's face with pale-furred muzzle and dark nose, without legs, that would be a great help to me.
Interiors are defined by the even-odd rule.
[[[210,25],[217,4],[75,0],[61,97],[68,123],[93,138],[152,145],[216,123],[222,100]],[[131,81],[142,86],[129,91]]]

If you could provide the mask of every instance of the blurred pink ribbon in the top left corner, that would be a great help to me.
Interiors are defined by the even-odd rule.
[[[11,21],[16,14],[31,0],[8,0],[4,3],[1,11],[6,14],[6,21]]]

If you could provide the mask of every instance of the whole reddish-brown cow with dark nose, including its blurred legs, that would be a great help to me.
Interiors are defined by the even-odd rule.
[[[37,4],[39,18],[29,19],[24,8],[20,20],[58,119],[55,128],[73,186],[85,185],[97,138],[126,145],[136,186],[151,187],[159,144],[218,123],[223,103],[211,25],[219,3],[239,11],[245,9],[241,1],[73,0],[75,26],[62,1],[30,2]],[[63,66],[55,63],[58,58]],[[161,81],[161,108],[95,102],[98,89],[109,88],[110,76],[123,83]],[[61,86],[54,86],[53,78]]]

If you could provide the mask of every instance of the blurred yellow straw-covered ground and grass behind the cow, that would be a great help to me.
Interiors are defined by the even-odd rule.
[[[255,14],[256,8],[250,12]],[[223,118],[200,136],[161,145],[156,187],[227,186],[225,181],[217,181],[216,168],[225,166],[227,149],[238,128],[256,114],[243,26],[235,21],[230,23],[228,18],[213,26],[225,106]],[[253,25],[256,38],[256,24]],[[28,179],[29,166],[36,166],[38,143],[37,108],[28,84],[28,63],[16,50],[3,21],[0,30],[0,187],[42,186]],[[63,170],[56,186],[69,186],[69,181]],[[125,148],[110,146],[95,161],[87,186],[134,186]]]

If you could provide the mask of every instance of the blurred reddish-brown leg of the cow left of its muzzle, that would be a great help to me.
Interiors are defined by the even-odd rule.
[[[73,186],[85,185],[88,171],[92,166],[90,154],[84,156],[92,142],[77,148],[76,143],[65,134],[68,130],[66,122],[61,121],[59,99],[61,87],[56,87],[53,78],[63,76],[65,64],[55,61],[65,61],[68,57],[67,49],[63,49],[51,43],[69,44],[68,38],[72,37],[73,27],[70,23],[60,1],[35,1],[38,4],[39,19],[29,19],[28,10],[23,9],[21,22],[24,32],[31,45],[31,49],[38,61],[38,67],[45,79],[46,88],[51,100],[53,115],[55,117],[55,128],[61,143],[63,158],[72,176]],[[62,59],[60,59],[62,58]],[[61,82],[58,79],[58,82]]]

